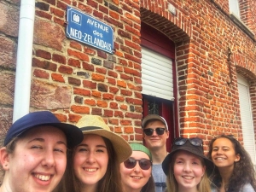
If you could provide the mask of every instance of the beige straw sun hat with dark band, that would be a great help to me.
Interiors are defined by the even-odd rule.
[[[123,137],[110,131],[110,128],[105,124],[102,117],[86,114],[79,119],[77,126],[84,135],[96,134],[108,138],[113,145],[119,163],[127,160],[131,156],[132,150],[129,143],[127,143]]]

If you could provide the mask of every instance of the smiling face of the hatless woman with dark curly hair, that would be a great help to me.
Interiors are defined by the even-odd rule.
[[[236,154],[233,143],[230,139],[220,137],[212,143],[212,161],[218,169],[228,168],[231,172],[234,162],[240,160],[240,154]]]

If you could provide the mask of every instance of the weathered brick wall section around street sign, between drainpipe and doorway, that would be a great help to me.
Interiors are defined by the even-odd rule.
[[[67,5],[113,26],[113,55],[65,37]],[[37,1],[32,110],[69,123],[101,115],[126,140],[142,140],[139,15],[137,1]]]

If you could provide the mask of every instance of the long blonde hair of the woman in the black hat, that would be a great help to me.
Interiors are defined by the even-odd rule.
[[[202,166],[205,166],[205,161],[199,157],[201,160]],[[174,156],[168,166],[169,172],[166,177],[166,192],[177,192],[177,180],[174,177],[173,174],[173,167],[174,167],[174,162],[176,160],[176,156]],[[210,187],[210,181],[207,177],[207,172],[201,177],[200,183],[197,184],[197,190],[198,192],[211,192],[211,187]]]

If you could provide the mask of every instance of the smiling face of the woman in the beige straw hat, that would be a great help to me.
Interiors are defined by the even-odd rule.
[[[108,168],[108,149],[98,135],[84,135],[84,140],[75,148],[73,169],[84,188],[94,186],[104,177]]]

